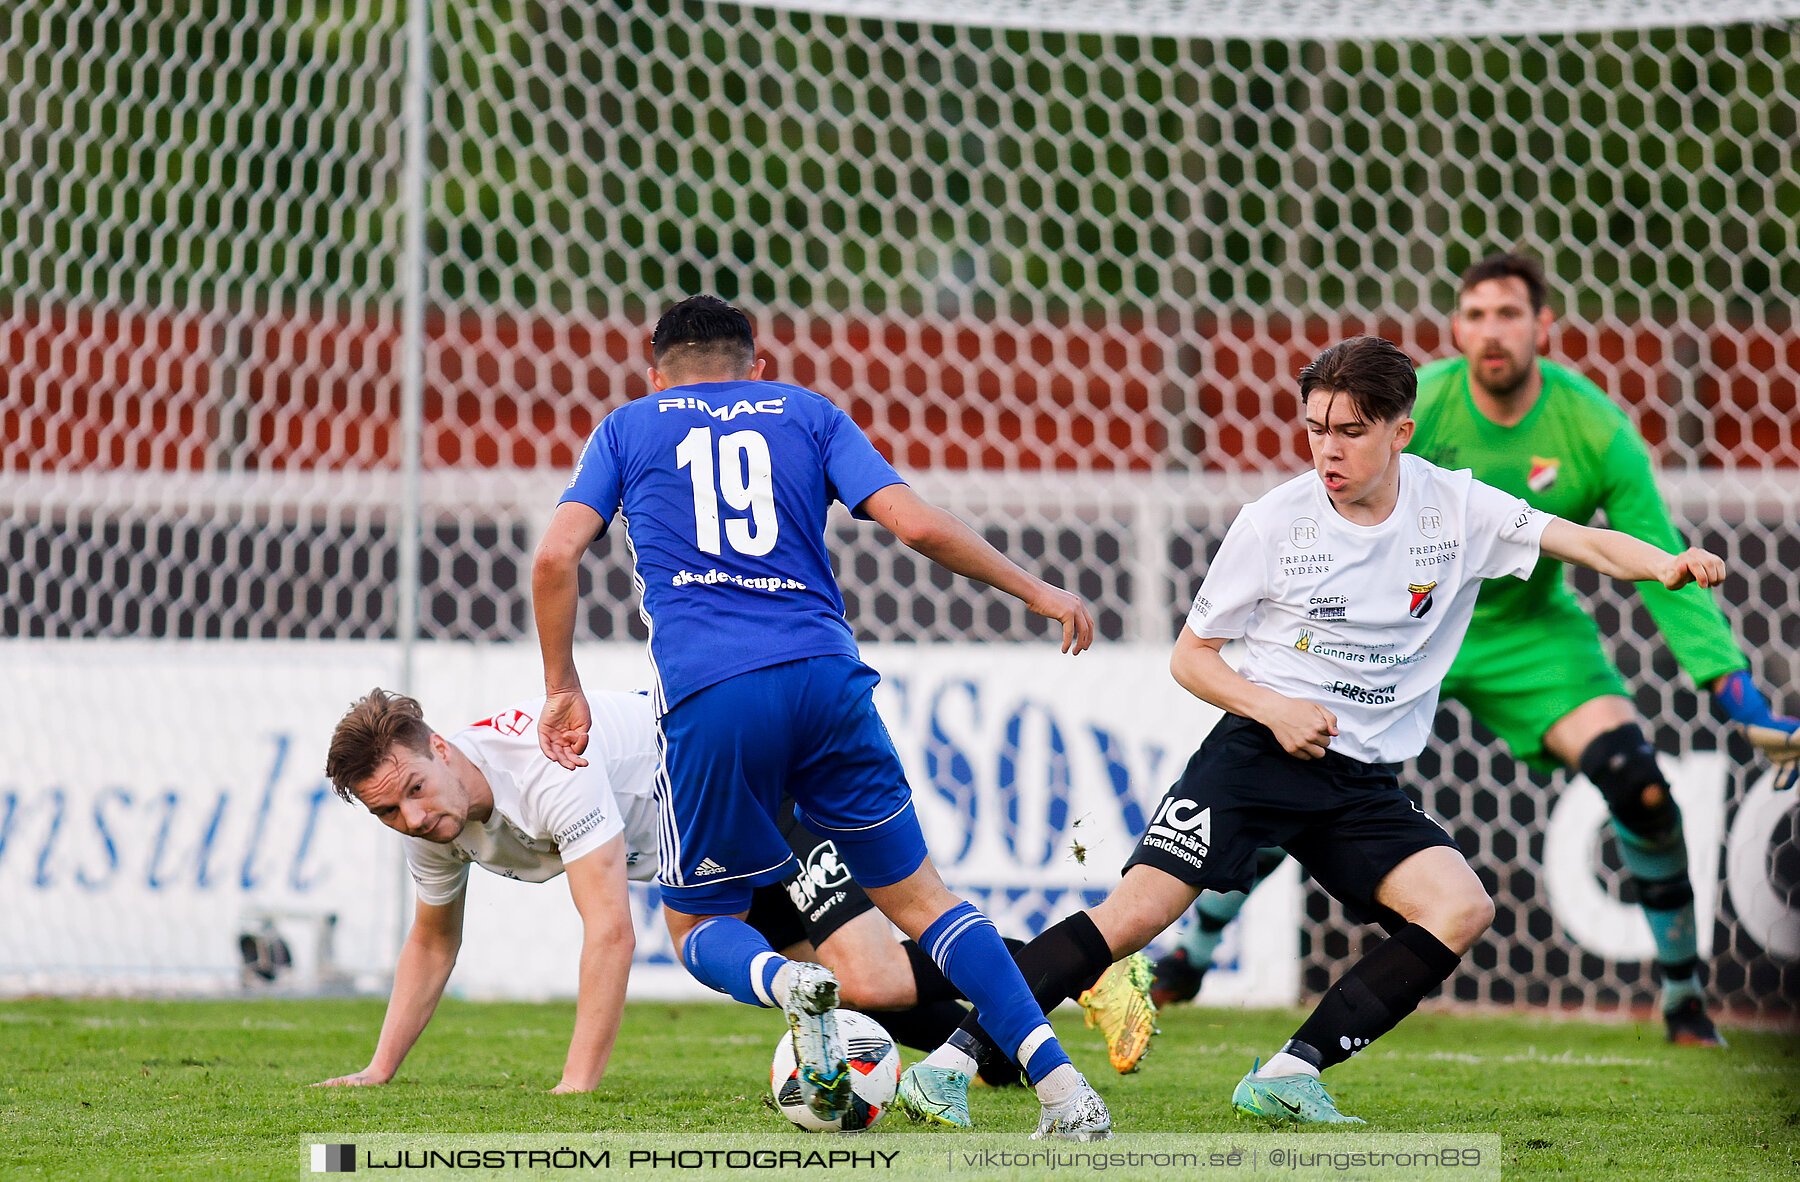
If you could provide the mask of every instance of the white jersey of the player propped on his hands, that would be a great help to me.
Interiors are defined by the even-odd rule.
[[[427,903],[450,903],[468,883],[468,864],[517,878],[547,882],[563,860],[592,853],[625,833],[625,873],[634,882],[657,874],[657,721],[644,694],[587,696],[594,725],[587,766],[571,772],[538,748],[544,700],[522,702],[450,736],[488,777],[493,813],[470,822],[454,842],[407,837],[407,869]]]

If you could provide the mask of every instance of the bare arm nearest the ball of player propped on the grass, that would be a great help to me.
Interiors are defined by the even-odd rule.
[[[574,1033],[556,1094],[592,1092],[607,1074],[612,1043],[625,1015],[625,981],[632,972],[635,936],[625,894],[625,837],[563,864],[569,896],[581,914],[581,979]]]

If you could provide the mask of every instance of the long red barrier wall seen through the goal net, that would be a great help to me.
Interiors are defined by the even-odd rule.
[[[625,322],[434,317],[432,466],[554,466],[614,405],[648,390],[648,329]],[[774,378],[837,398],[904,468],[1289,466],[1303,453],[1292,374],[1375,331],[1442,356],[1435,322],[1174,317],[1154,326],[774,320]],[[40,309],[0,320],[0,448],[20,470],[252,470],[394,462],[398,324]],[[1800,338],[1715,326],[1562,329],[1557,354],[1627,403],[1665,459],[1800,466]],[[1685,403],[1683,394],[1692,392]]]

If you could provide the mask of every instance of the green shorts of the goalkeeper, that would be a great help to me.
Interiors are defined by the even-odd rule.
[[[1629,696],[1600,648],[1600,630],[1580,608],[1544,604],[1528,621],[1481,619],[1469,626],[1444,696],[1456,698],[1516,757],[1553,768],[1544,732],[1575,707]]]

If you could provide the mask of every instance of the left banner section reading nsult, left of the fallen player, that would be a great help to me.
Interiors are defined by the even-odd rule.
[[[329,937],[373,981],[400,851],[320,768],[394,666],[349,644],[0,646],[0,991],[234,988],[238,937],[272,923],[308,975]]]

